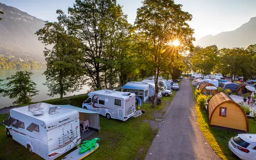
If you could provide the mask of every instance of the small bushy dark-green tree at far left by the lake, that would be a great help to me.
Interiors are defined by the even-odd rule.
[[[9,82],[5,84],[5,96],[16,99],[13,104],[30,103],[32,97],[38,94],[37,84],[31,81],[31,75],[33,75],[31,71],[18,71],[6,78]]]

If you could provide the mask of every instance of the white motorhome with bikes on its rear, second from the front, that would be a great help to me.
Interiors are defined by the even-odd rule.
[[[105,89],[90,92],[88,96],[82,107],[106,116],[107,119],[126,121],[136,112],[134,93]]]

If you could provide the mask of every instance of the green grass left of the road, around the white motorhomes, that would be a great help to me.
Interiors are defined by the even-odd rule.
[[[158,131],[152,129],[150,121],[158,123],[155,118],[162,118],[165,107],[170,104],[177,91],[173,91],[170,97],[163,97],[163,104],[151,107],[151,102],[144,103],[140,109],[146,110],[147,117],[130,118],[126,122],[119,120],[107,120],[100,116],[101,132],[88,138],[98,137],[100,147],[86,159],[145,159],[148,149]],[[81,107],[87,95],[78,96],[66,100],[45,101],[51,104],[71,104]],[[0,120],[6,115],[0,115]],[[0,159],[42,159],[36,154],[30,154],[12,138],[7,138],[5,126],[0,126]],[[65,154],[67,155],[67,153]],[[63,158],[65,155],[57,159]]]

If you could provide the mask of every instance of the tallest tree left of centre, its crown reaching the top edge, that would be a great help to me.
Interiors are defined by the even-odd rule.
[[[69,32],[75,35],[86,47],[84,52],[85,75],[92,81],[92,88],[101,89],[102,62],[104,54],[111,52],[108,38],[118,32],[116,21],[122,17],[122,9],[116,0],[76,0],[68,8],[69,16],[58,10],[58,20],[65,24]],[[108,51],[106,47],[108,46]],[[108,58],[111,59],[112,55]],[[113,64],[109,63],[111,69]],[[110,83],[111,83],[110,77]]]

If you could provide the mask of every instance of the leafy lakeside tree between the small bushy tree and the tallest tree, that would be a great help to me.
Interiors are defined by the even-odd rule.
[[[45,45],[54,45],[53,48],[45,47],[44,56],[46,61],[46,85],[50,96],[56,94],[66,95],[81,89],[83,85],[83,46],[74,36],[60,23],[45,22],[45,26],[36,33],[39,40]]]

